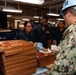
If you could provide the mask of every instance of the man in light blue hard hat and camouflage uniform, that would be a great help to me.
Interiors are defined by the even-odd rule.
[[[61,15],[68,26],[55,63],[47,75],[74,75],[76,72],[76,0],[64,2]]]

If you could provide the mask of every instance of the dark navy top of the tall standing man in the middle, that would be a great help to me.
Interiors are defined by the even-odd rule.
[[[41,23],[33,28],[35,42],[41,42],[45,48],[48,48],[48,40],[51,39],[51,30],[47,25],[42,29]]]

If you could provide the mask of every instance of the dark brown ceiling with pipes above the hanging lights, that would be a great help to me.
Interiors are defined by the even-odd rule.
[[[45,0],[42,5],[28,4],[15,2],[13,0],[6,0],[6,6],[18,7],[23,10],[22,13],[7,13],[12,15],[12,18],[31,18],[35,15],[46,16],[47,13],[60,13],[64,0]],[[5,6],[5,0],[0,0],[0,11],[1,8]],[[50,19],[55,19],[56,17],[48,16]]]

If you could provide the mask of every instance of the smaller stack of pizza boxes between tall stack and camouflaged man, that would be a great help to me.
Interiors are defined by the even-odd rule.
[[[54,64],[54,61],[56,60],[56,56],[51,53],[45,54],[45,53],[36,52],[36,55],[37,55],[37,61],[38,61],[39,67],[52,65]]]

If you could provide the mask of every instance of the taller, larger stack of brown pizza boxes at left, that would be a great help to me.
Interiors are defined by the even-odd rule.
[[[32,42],[6,41],[0,44],[2,75],[32,75],[37,68],[36,48]]]

